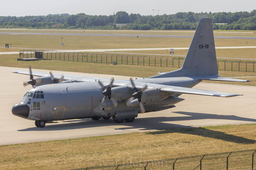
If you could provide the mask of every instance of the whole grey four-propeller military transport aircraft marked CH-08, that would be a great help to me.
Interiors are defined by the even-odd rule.
[[[33,85],[12,108],[15,116],[35,120],[37,127],[47,122],[92,118],[114,122],[133,122],[138,113],[160,111],[175,107],[184,99],[181,94],[233,97],[239,94],[193,89],[202,80],[247,82],[249,80],[219,77],[212,21],[201,18],[182,68],[159,73],[145,79],[114,80],[73,75],[45,74],[32,71],[13,71],[30,74]],[[26,85],[26,83],[24,84]]]

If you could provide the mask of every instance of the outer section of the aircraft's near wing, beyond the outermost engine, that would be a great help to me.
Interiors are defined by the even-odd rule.
[[[161,91],[166,93],[174,93],[174,94],[196,94],[196,95],[204,95],[204,96],[218,96],[218,97],[234,97],[234,96],[242,96],[241,94],[231,94],[231,93],[223,93],[218,91],[207,91],[200,90],[195,88],[161,88]]]

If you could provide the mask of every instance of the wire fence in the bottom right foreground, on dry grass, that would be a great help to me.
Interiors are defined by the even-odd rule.
[[[253,170],[256,163],[255,152],[256,149],[241,150],[76,170]]]

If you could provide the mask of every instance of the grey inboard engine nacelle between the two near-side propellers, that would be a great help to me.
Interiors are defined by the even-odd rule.
[[[130,88],[127,86],[119,86],[115,88],[111,88],[111,96],[116,101],[125,100],[131,97]]]

